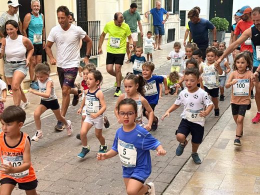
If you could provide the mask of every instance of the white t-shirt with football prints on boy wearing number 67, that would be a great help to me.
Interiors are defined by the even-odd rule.
[[[194,120],[199,117],[199,111],[203,110],[204,107],[213,104],[212,101],[209,99],[209,96],[206,91],[201,88],[198,88],[197,91],[190,93],[188,92],[187,88],[180,91],[177,99],[175,100],[174,104],[176,105],[184,105],[183,111],[181,112],[180,116],[184,119],[191,120],[186,117],[187,113],[192,115]],[[191,117],[190,117],[191,118]],[[199,121],[192,121],[194,123],[200,124],[204,126],[204,118],[201,118]]]

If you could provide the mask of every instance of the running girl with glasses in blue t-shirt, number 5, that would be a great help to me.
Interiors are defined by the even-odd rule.
[[[165,155],[166,151],[156,138],[134,122],[137,104],[133,99],[121,100],[117,113],[123,125],[115,133],[112,148],[107,153],[97,153],[96,158],[104,160],[119,153],[127,194],[155,194],[152,182],[143,184],[151,173],[149,150],[156,149],[156,155]]]

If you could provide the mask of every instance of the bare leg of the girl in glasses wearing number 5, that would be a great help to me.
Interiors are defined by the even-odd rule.
[[[148,191],[148,185],[142,184],[140,181],[132,178],[123,178],[123,181],[128,195],[143,195]]]

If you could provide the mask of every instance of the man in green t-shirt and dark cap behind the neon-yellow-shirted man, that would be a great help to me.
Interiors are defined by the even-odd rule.
[[[123,12],[123,19],[124,22],[127,23],[130,27],[131,30],[131,36],[133,39],[133,47],[135,48],[136,46],[136,42],[138,40],[138,32],[137,32],[137,22],[138,22],[138,27],[140,30],[140,34],[141,37],[143,36],[143,32],[142,32],[142,25],[141,25],[141,17],[140,17],[140,13],[138,11],[136,11],[137,9],[137,4],[135,2],[130,4],[130,8],[126,11]],[[128,38],[126,37],[126,53],[127,56],[129,54],[129,41]],[[130,61],[127,60],[125,63],[129,63]]]

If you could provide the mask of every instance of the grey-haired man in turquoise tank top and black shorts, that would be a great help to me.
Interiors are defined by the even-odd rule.
[[[34,51],[30,58],[29,74],[30,74],[30,88],[39,90],[37,77],[34,74],[34,68],[37,63],[41,62],[42,49],[45,48],[45,28],[44,16],[39,12],[39,0],[30,1],[31,12],[27,13],[23,20],[22,33],[28,37],[33,44]],[[26,29],[28,28],[28,34]]]

